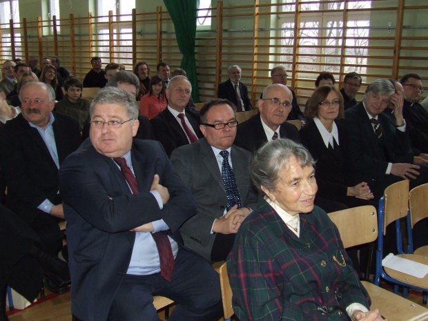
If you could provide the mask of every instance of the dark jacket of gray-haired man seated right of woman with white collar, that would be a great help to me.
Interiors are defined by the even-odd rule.
[[[367,182],[375,197],[396,180],[386,175],[388,163],[413,163],[409,133],[402,132],[391,124],[388,116],[378,115],[382,126],[382,138],[376,137],[370,119],[362,104],[345,110],[344,124],[348,131],[351,164],[359,182]],[[400,178],[400,177],[398,177]],[[386,186],[385,186],[386,185]]]

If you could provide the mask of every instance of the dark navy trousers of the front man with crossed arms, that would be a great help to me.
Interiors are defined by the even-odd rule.
[[[199,255],[179,249],[172,282],[154,275],[126,275],[108,313],[108,321],[160,320],[153,296],[177,303],[168,320],[218,320],[223,314],[220,276]]]

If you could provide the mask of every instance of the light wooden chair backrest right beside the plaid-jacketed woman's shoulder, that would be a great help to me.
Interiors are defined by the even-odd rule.
[[[360,206],[329,213],[345,249],[373,242],[378,237],[378,215],[374,206]]]

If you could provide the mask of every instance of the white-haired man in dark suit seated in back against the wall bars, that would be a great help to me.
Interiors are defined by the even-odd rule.
[[[218,98],[228,99],[236,106],[236,111],[253,110],[251,101],[249,99],[249,90],[246,85],[240,82],[241,79],[240,66],[229,66],[228,75],[229,79],[218,85]]]

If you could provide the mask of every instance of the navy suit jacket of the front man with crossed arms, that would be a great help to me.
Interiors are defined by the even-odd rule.
[[[90,139],[59,171],[73,284],[71,309],[81,320],[107,320],[133,251],[135,232],[130,229],[163,219],[168,235],[182,244],[178,228],[196,211],[191,192],[159,142],[134,139],[131,159],[138,194],[131,193],[113,159],[99,154]],[[162,210],[149,192],[155,174],[170,193]]]

